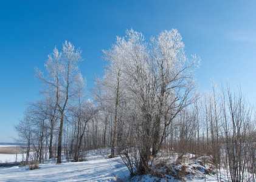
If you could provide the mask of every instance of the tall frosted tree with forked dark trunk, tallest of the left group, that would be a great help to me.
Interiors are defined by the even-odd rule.
[[[44,84],[44,92],[55,96],[55,101],[60,112],[60,126],[58,129],[58,156],[57,163],[61,163],[61,144],[63,135],[64,113],[68,101],[77,94],[81,82],[78,62],[81,59],[81,50],[75,50],[71,42],[65,41],[62,51],[55,47],[54,52],[48,56],[46,64],[47,74],[36,69],[36,77]]]

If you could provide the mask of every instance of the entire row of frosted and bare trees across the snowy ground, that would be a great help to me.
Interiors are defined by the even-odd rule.
[[[230,180],[255,174],[255,120],[241,90],[196,90],[197,56],[187,58],[177,30],[161,32],[150,42],[133,29],[104,50],[108,64],[95,78],[92,101],[85,96],[85,79],[78,62],[81,51],[70,42],[46,61],[43,99],[29,103],[15,127],[36,150],[36,159],[83,160],[83,151],[111,147],[131,175],[147,174],[162,149],[212,156],[216,172],[229,170]],[[63,140],[64,137],[64,140]],[[63,147],[64,145],[64,147]],[[57,152],[57,153],[56,153]],[[117,152],[117,153],[116,153]],[[49,153],[49,156],[47,156]],[[254,178],[254,176],[253,176]]]

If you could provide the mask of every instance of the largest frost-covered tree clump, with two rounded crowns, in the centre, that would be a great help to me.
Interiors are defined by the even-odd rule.
[[[128,123],[123,131],[126,141],[122,147],[137,147],[139,174],[147,172],[150,156],[159,151],[174,118],[197,98],[193,73],[199,58],[185,56],[181,39],[177,30],[164,31],[147,44],[142,33],[131,29],[125,37],[117,37],[116,44],[105,52],[109,60],[106,81],[115,88],[112,94],[115,95],[114,126],[117,118],[125,120],[123,124]],[[122,112],[121,106],[125,107]],[[133,136],[127,137],[129,132],[133,132]],[[112,141],[114,146],[116,127]],[[125,146],[125,143],[131,145]]]

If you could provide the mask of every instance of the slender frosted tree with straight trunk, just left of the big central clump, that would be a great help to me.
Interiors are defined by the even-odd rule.
[[[125,78],[123,75],[123,64],[125,58],[125,40],[117,38],[116,44],[108,51],[103,50],[105,59],[109,61],[109,65],[105,69],[102,83],[105,92],[109,93],[108,99],[112,103],[112,112],[114,113],[114,129],[112,130],[112,143],[110,158],[115,156],[115,146],[117,146],[117,126],[120,124],[120,104],[124,99]],[[102,103],[101,103],[102,104]]]

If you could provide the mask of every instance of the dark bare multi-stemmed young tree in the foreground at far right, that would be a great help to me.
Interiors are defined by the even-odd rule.
[[[250,162],[255,160],[255,141],[249,140],[249,135],[253,132],[252,108],[244,99],[241,88],[238,92],[232,93],[227,85],[227,93],[223,90],[222,95],[223,110],[223,131],[224,146],[226,153],[227,167],[229,169],[231,181],[244,181],[244,177],[252,177],[249,169]],[[254,167],[255,170],[255,167]],[[252,177],[251,180],[255,180]]]

